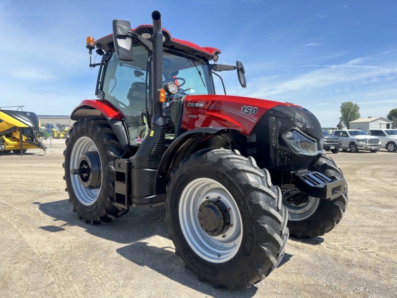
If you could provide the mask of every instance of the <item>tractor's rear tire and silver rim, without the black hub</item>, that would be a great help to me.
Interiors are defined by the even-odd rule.
[[[113,205],[115,196],[114,163],[117,158],[120,158],[122,148],[108,121],[104,117],[80,118],[74,124],[74,128],[70,130],[70,137],[66,139],[65,143],[65,162],[63,164],[65,168],[64,180],[66,180],[65,191],[69,194],[69,202],[78,218],[84,220],[85,223],[99,224],[110,223],[127,214],[128,209]],[[73,147],[76,147],[75,151],[73,151]],[[88,190],[82,187],[81,184],[78,184],[78,175],[70,174],[70,166],[76,163],[73,160],[80,153],[80,155],[85,153],[84,148],[86,150],[95,148],[94,151],[99,153],[102,165],[102,180],[99,190]]]

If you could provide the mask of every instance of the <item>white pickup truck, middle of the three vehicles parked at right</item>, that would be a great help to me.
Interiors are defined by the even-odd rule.
[[[381,149],[381,142],[378,137],[369,136],[359,129],[345,129],[333,132],[334,136],[340,138],[341,149],[358,152],[358,150],[369,150],[373,153]]]

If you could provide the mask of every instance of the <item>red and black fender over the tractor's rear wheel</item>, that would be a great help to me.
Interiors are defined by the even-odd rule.
[[[83,100],[81,104],[73,110],[70,115],[70,119],[77,121],[78,119],[87,116],[105,117],[115,132],[124,152],[130,149],[128,133],[123,121],[124,115],[108,101],[104,99]]]

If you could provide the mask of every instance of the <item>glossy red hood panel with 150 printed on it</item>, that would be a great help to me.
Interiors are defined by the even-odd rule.
[[[296,106],[242,96],[188,95],[184,102],[182,129],[229,127],[250,135],[265,112],[277,105]]]

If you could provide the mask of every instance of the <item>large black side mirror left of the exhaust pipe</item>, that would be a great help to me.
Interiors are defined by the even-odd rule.
[[[133,61],[132,37],[128,34],[131,31],[129,21],[113,20],[113,44],[117,58],[123,61]]]

